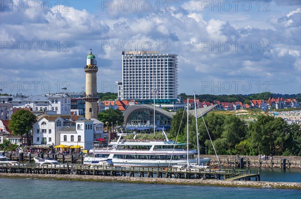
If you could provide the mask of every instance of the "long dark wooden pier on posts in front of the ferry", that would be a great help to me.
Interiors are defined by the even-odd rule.
[[[46,165],[19,164],[17,166],[0,164],[2,173],[34,173],[34,174],[76,174],[130,177],[184,178],[184,179],[225,179],[225,180],[260,180],[260,173],[240,169],[214,168],[162,168],[132,166],[88,166],[79,164]]]

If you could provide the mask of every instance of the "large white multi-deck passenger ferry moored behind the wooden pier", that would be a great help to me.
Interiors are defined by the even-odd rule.
[[[123,140],[121,134],[117,141],[111,141],[108,148],[92,148],[84,159],[86,164],[92,161],[104,161],[110,159],[114,166],[152,166],[167,167],[172,165],[187,164],[186,143],[175,143],[170,141],[165,132],[166,140]],[[189,163],[196,164],[196,150],[189,150]],[[201,158],[200,162],[205,164],[210,158]]]

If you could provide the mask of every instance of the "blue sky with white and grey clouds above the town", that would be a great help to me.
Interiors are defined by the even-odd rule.
[[[3,1],[0,93],[117,92],[121,52],[178,55],[178,94],[301,92],[301,1]],[[2,90],[1,90],[2,89]]]

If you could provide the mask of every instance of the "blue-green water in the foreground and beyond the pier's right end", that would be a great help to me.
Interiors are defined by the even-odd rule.
[[[256,173],[258,169],[251,169]],[[262,181],[301,182],[300,169],[261,169]],[[1,199],[47,198],[289,198],[301,190],[0,178]]]

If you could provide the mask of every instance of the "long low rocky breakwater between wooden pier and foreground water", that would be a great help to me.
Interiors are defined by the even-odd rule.
[[[58,175],[58,174],[26,174],[26,173],[0,173],[0,178],[35,178],[55,180],[80,180],[80,181],[107,181],[149,184],[181,184],[203,186],[228,186],[228,187],[255,187],[255,188],[288,188],[301,189],[298,182],[267,182],[267,181],[226,181],[213,179],[179,179],[179,178],[146,178],[146,177],[119,177],[95,175]]]

